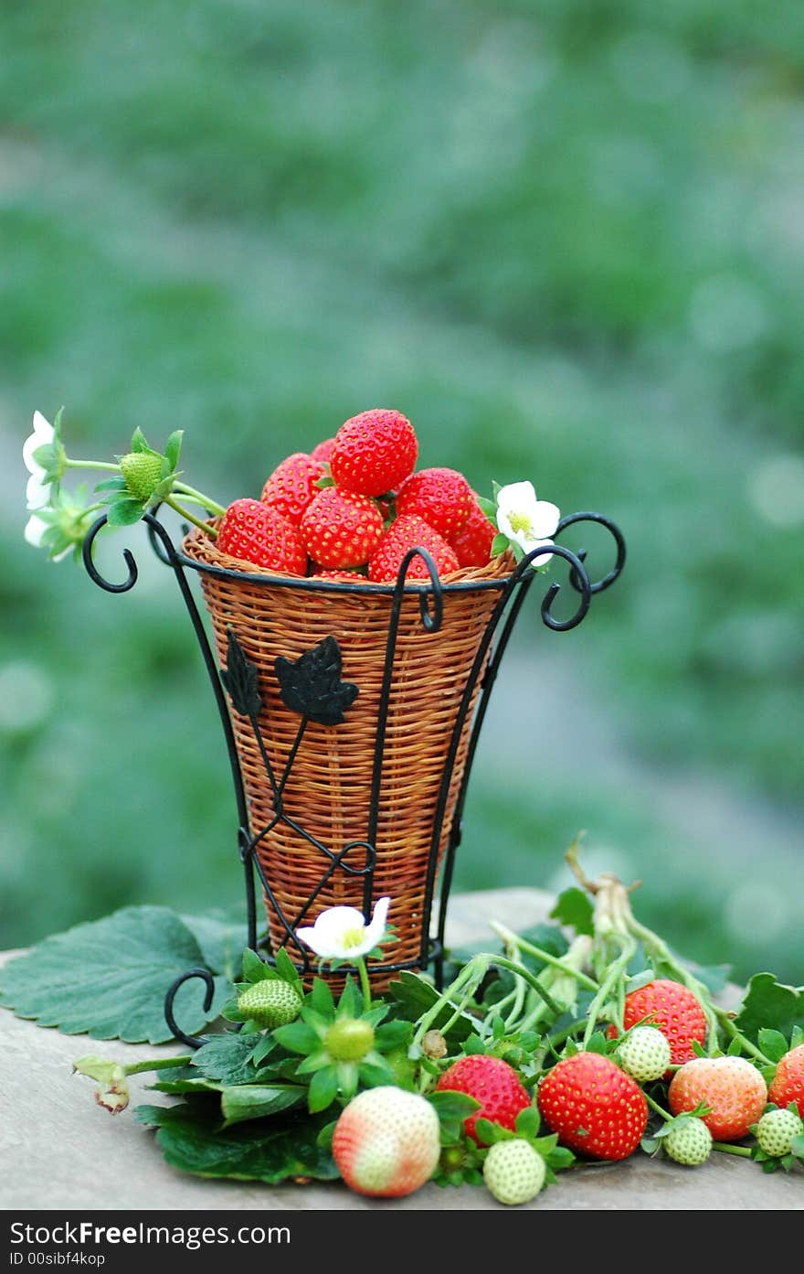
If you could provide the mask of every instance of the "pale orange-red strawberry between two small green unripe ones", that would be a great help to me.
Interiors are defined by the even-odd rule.
[[[737,1142],[765,1110],[767,1085],[745,1057],[693,1057],[673,1075],[668,1101],[673,1115],[703,1102],[711,1113],[701,1119],[715,1140]]]

